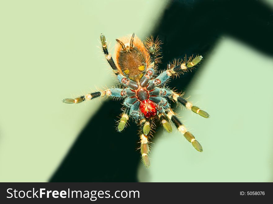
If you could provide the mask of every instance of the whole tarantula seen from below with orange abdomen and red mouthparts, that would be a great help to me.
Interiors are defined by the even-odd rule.
[[[110,88],[103,91],[86,94],[78,98],[66,98],[64,103],[81,103],[97,97],[110,96],[114,98],[122,98],[125,110],[121,115],[118,125],[118,131],[121,132],[129,117],[134,119],[141,126],[141,157],[145,167],[150,167],[148,137],[151,128],[151,120],[158,118],[164,129],[171,133],[172,126],[170,120],[175,124],[177,129],[184,137],[194,146],[194,148],[202,152],[203,148],[195,137],[187,132],[185,126],[179,121],[172,111],[167,98],[181,103],[187,109],[208,118],[209,115],[198,107],[193,106],[182,95],[175,93],[171,89],[163,85],[172,77],[179,73],[187,71],[190,67],[195,66],[201,61],[202,56],[197,56],[187,63],[178,62],[169,64],[168,69],[155,75],[156,63],[159,63],[159,45],[161,42],[153,38],[147,38],[144,43],[135,34],[123,37],[115,46],[116,63],[107,50],[106,39],[101,34],[101,44],[105,54],[105,58],[112,67],[114,73],[123,88]]]

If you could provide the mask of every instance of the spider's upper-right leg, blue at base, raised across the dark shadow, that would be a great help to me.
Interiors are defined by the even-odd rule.
[[[154,80],[149,81],[147,85],[147,90],[150,91],[154,89],[156,86],[162,85],[163,83],[167,82],[167,80],[169,80],[171,76],[175,74],[185,72],[188,68],[198,64],[202,58],[203,58],[202,56],[197,56],[192,61],[188,63],[182,63],[176,67],[171,67],[171,65],[169,64],[167,70],[161,72]]]

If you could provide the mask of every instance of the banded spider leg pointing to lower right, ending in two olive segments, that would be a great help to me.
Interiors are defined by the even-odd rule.
[[[187,129],[181,123],[181,121],[174,115],[173,111],[170,109],[167,109],[166,114],[168,115],[168,118],[171,119],[172,122],[175,124],[179,132],[181,132],[184,135],[186,140],[189,141],[197,151],[203,152],[203,148],[200,145],[200,143],[195,139],[192,133],[187,131]]]

